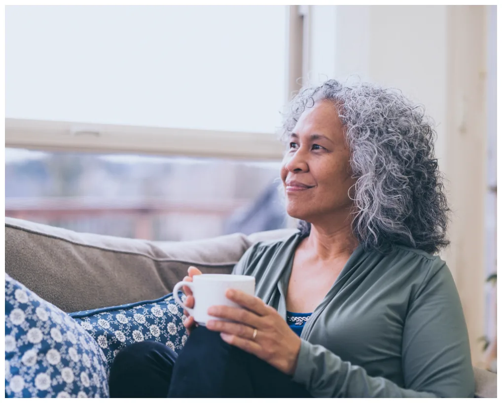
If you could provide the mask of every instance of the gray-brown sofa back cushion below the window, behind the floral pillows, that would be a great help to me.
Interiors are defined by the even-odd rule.
[[[229,273],[251,245],[242,234],[149,242],[13,218],[6,218],[5,239],[6,272],[65,312],[159,298],[190,265],[205,273]]]

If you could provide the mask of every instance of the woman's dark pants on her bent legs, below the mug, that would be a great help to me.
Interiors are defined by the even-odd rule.
[[[110,397],[311,397],[291,376],[203,326],[193,329],[179,355],[151,341],[123,348],[109,387]]]

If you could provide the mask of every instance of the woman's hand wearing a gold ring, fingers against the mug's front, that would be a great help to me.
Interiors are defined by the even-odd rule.
[[[221,338],[226,343],[256,355],[288,375],[293,375],[301,340],[286,321],[258,297],[236,289],[227,290],[226,297],[242,308],[214,306],[210,307],[207,313],[237,323],[211,320],[207,322],[206,327],[221,332]]]

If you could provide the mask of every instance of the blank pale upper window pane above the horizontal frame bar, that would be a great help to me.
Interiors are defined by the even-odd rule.
[[[6,117],[272,133],[286,7],[6,7]]]

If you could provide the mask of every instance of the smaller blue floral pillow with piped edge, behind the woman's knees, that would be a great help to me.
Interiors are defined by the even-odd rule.
[[[182,292],[180,298],[185,300]],[[188,337],[183,308],[172,293],[151,301],[74,312],[70,316],[97,341],[108,368],[118,351],[130,344],[151,340],[180,351]]]

